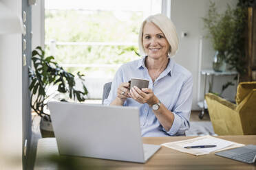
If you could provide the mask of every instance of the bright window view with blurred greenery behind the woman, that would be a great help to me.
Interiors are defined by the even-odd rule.
[[[45,0],[46,55],[85,74],[89,97],[100,99],[118,67],[140,58],[140,23],[161,6],[161,0]]]

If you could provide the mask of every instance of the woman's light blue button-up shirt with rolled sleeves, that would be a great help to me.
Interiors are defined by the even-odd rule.
[[[111,84],[109,97],[104,104],[109,105],[117,96],[117,88],[122,82],[128,82],[131,77],[149,80],[149,88],[161,103],[174,114],[173,125],[167,131],[162,127],[148,104],[140,104],[132,98],[127,98],[124,106],[135,106],[140,110],[140,128],[142,136],[180,136],[189,129],[189,117],[192,105],[193,80],[191,73],[183,66],[169,59],[167,68],[155,82],[151,80],[145,58],[127,62],[120,66]]]

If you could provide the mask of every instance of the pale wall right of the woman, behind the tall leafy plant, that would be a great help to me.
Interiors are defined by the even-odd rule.
[[[237,0],[212,0],[217,5],[217,10],[224,11],[226,3],[236,5]],[[171,20],[176,26],[177,33],[180,39],[180,49],[176,54],[174,60],[189,69],[193,74],[193,104],[192,109],[200,109],[197,102],[203,98],[203,81],[198,84],[198,79],[204,77],[199,76],[200,66],[202,69],[211,69],[213,62],[213,50],[208,39],[202,38],[206,30],[203,29],[202,17],[205,17],[209,9],[210,1],[208,0],[171,0]],[[182,38],[182,32],[188,32],[188,36]],[[199,42],[202,38],[202,62],[199,63]],[[232,81],[233,76],[215,77],[213,90],[220,93],[222,85],[228,81]],[[198,90],[200,85],[200,90]],[[224,92],[224,97],[234,99],[235,86],[229,87]],[[207,91],[206,91],[207,92]],[[200,98],[198,99],[198,93]]]

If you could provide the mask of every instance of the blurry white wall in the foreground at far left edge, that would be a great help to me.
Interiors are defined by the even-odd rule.
[[[21,1],[1,2],[21,16]],[[21,59],[21,34],[0,35],[0,169],[22,169]]]

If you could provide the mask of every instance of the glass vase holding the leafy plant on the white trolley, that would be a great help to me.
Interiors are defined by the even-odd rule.
[[[216,51],[213,58],[213,70],[217,72],[226,71],[226,62],[224,52]]]

